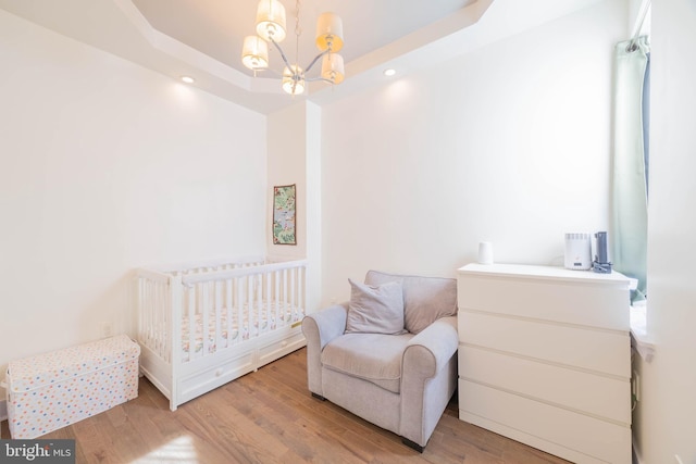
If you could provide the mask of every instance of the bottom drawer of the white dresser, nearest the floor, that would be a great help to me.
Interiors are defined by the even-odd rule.
[[[468,380],[459,417],[577,464],[631,463],[631,428]]]

